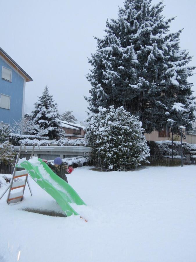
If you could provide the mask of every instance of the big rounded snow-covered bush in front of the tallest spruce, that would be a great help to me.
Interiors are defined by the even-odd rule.
[[[92,148],[90,157],[99,167],[113,170],[135,168],[147,162],[149,148],[139,117],[123,107],[99,107],[98,114],[87,118],[86,143]]]

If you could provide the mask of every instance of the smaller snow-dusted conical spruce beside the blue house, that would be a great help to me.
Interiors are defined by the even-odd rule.
[[[60,116],[57,104],[53,100],[53,95],[49,94],[47,86],[44,88],[42,96],[38,98],[38,102],[35,103],[35,110],[31,114],[33,122],[38,124],[50,139],[59,138],[62,132]]]

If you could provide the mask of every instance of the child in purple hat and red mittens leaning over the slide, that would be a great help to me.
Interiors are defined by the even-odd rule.
[[[54,165],[48,163],[48,161],[45,159],[42,159],[42,161],[48,164],[48,167],[50,167],[55,172],[55,174],[57,174],[57,176],[60,176],[60,178],[64,179],[66,182],[67,182],[66,175],[71,174],[71,172],[74,170],[73,167],[68,168],[68,166],[62,162],[62,159],[60,157],[55,158],[53,162]]]

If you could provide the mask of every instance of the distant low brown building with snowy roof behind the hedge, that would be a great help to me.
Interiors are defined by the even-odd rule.
[[[85,131],[84,126],[81,124],[74,124],[67,121],[60,121],[62,129],[66,133],[66,137],[70,139],[83,138]]]

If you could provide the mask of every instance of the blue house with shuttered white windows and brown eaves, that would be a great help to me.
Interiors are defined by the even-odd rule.
[[[26,82],[33,79],[0,47],[0,127],[24,116]]]

